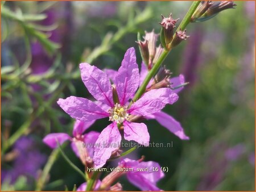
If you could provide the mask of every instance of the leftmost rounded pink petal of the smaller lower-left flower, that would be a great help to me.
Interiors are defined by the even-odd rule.
[[[57,141],[62,145],[65,141],[71,139],[67,133],[49,133],[44,137],[43,142],[52,149],[58,147]]]

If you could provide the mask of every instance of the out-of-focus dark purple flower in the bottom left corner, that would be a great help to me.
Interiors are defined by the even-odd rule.
[[[38,177],[39,169],[46,162],[46,155],[40,153],[36,147],[36,142],[32,137],[20,137],[14,144],[13,150],[17,155],[13,162],[13,169],[1,170],[1,181],[9,179],[11,183],[14,183],[19,176],[26,176],[30,183],[31,178]]]

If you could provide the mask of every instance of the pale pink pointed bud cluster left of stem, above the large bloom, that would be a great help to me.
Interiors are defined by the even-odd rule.
[[[145,36],[143,36],[144,41],[137,41],[141,51],[142,59],[147,65],[148,69],[151,69],[156,61],[158,61],[164,50],[161,45],[156,48],[156,41],[158,36],[159,34],[155,34],[154,30],[151,32],[145,31]]]

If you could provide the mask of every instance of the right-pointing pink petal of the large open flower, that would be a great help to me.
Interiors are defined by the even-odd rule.
[[[142,97],[131,105],[129,113],[133,115],[150,115],[162,110],[166,104],[177,101],[178,95],[170,88],[153,89],[146,92]]]

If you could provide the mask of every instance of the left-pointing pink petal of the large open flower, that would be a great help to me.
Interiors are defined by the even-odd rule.
[[[72,118],[82,122],[90,122],[109,116],[108,112],[85,98],[71,96],[66,99],[59,99],[57,103]]]

